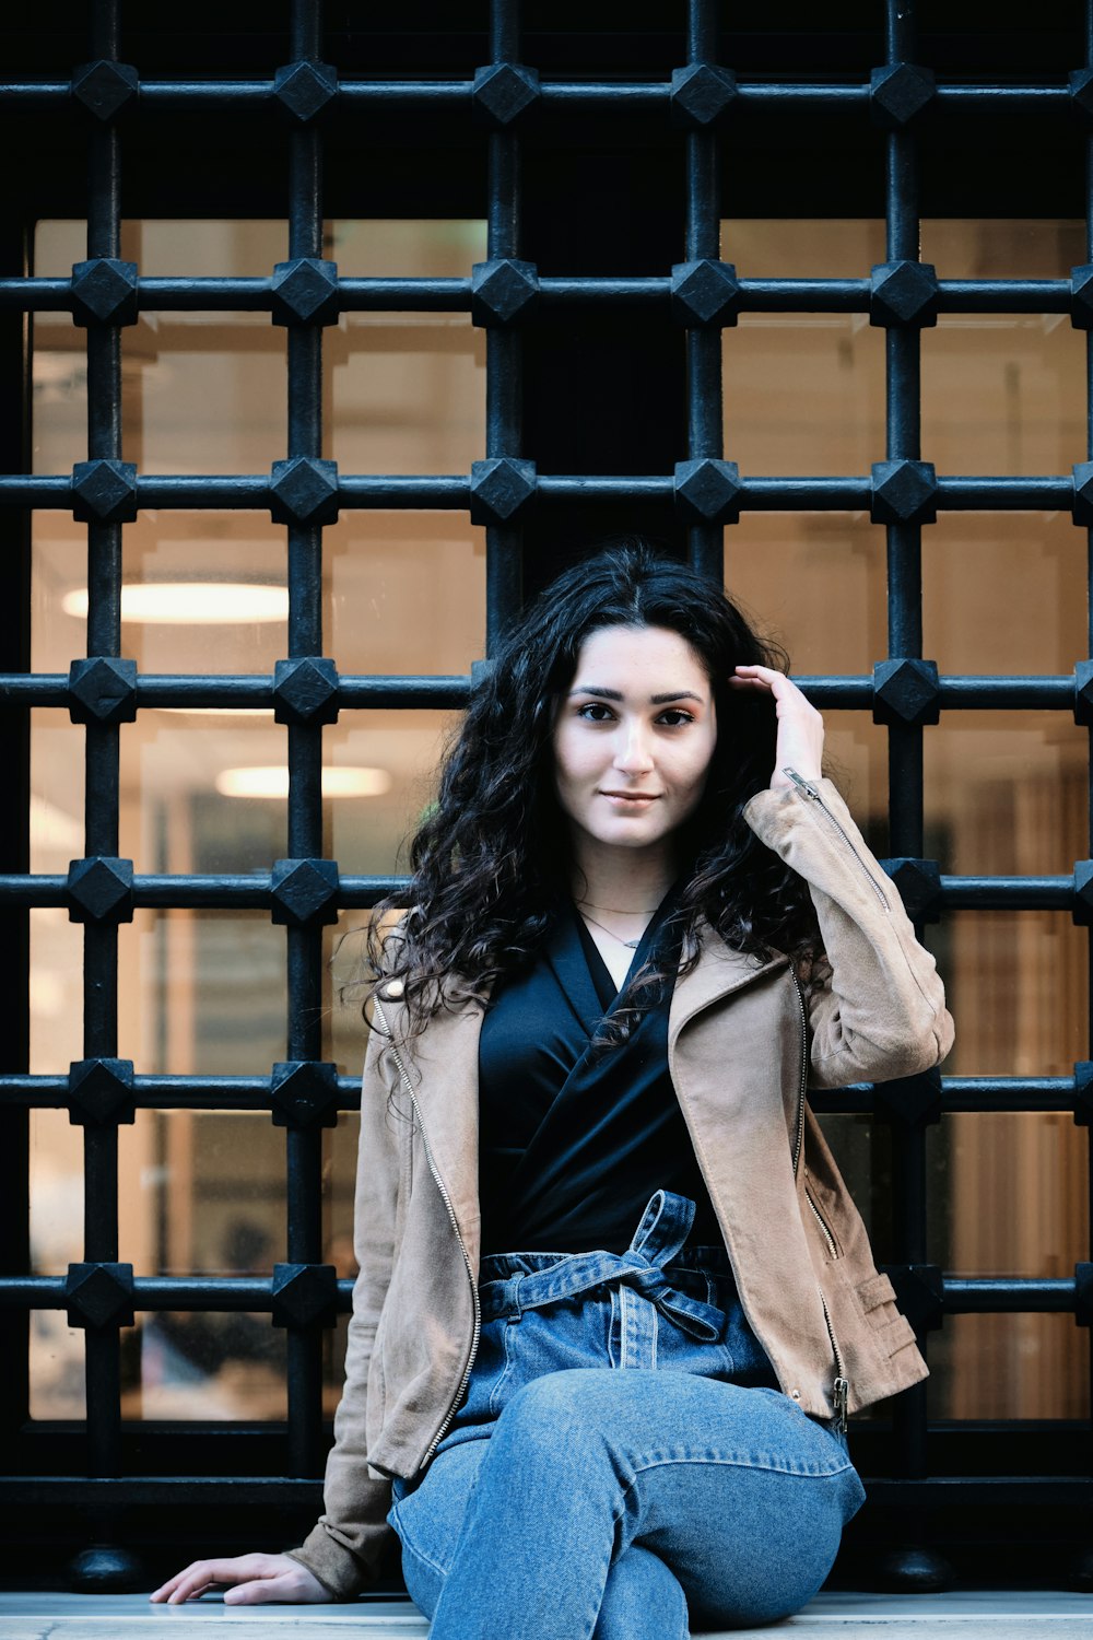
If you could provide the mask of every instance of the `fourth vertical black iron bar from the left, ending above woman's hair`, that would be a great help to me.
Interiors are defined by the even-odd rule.
[[[716,62],[718,10],[713,0],[688,0],[687,61]],[[721,256],[721,167],[716,131],[687,133],[687,246],[688,262]],[[721,331],[687,331],[687,449],[692,461],[723,456]],[[687,531],[695,569],[724,579],[724,526],[695,523]]]

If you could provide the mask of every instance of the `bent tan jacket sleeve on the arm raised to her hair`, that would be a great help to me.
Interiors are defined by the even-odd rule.
[[[828,779],[757,792],[752,831],[808,882],[828,966],[810,997],[811,1086],[880,1082],[939,1064],[952,1020],[934,958]]]

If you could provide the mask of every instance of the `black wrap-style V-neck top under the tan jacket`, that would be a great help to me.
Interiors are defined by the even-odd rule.
[[[634,953],[669,973],[669,895]],[[718,1245],[683,1114],[669,1076],[667,995],[616,1048],[590,1050],[618,1002],[615,981],[574,905],[559,910],[537,959],[500,982],[478,1048],[482,1251],[623,1253],[657,1189],[696,1204],[692,1243]]]

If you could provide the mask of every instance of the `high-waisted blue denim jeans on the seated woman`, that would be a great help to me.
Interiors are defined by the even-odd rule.
[[[433,1640],[675,1640],[760,1624],[828,1576],[865,1496],[659,1191],[623,1255],[482,1261],[482,1343],[390,1524]]]

